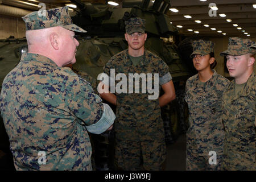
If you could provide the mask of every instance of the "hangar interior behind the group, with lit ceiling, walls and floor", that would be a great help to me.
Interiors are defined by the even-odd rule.
[[[114,4],[103,0],[0,0],[0,40],[24,38],[26,28],[21,17],[42,8],[42,4],[39,6],[39,3],[43,3],[46,9],[69,6],[69,13],[72,15],[79,8],[79,5],[76,6],[74,2],[91,3],[96,6],[108,6],[109,9],[120,10],[142,6],[143,3],[146,3],[144,8],[158,9],[170,18],[168,23],[174,27],[176,32],[166,39],[167,42],[170,41],[176,46],[184,39],[204,38],[214,42],[215,58],[218,61],[215,69],[225,77],[229,77],[229,74],[225,71],[225,60],[224,57],[220,56],[220,52],[227,48],[228,38],[248,38],[256,42],[255,0],[113,0]],[[157,6],[155,2],[158,3]],[[0,57],[1,54],[0,52]],[[2,69],[0,67],[1,73]],[[8,137],[3,123],[1,123],[0,132],[0,170],[14,171],[13,156],[6,147]],[[185,170],[185,144],[184,131],[167,144],[167,159],[164,170]]]

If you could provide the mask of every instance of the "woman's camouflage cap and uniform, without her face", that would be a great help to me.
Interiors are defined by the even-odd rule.
[[[205,40],[193,42],[193,53],[207,55],[214,43]],[[187,131],[187,170],[220,170],[224,140],[221,122],[221,98],[228,80],[213,70],[213,76],[201,82],[196,74],[187,80],[185,101],[189,109]],[[210,151],[215,151],[217,164],[210,164]]]

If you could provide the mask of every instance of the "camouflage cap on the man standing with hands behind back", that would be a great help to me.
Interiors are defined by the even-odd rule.
[[[145,20],[141,18],[130,18],[125,21],[125,30],[127,34],[133,34],[134,32],[145,33]]]

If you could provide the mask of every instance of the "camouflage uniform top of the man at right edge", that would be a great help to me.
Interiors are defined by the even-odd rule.
[[[235,81],[227,86],[223,96],[224,170],[256,170],[256,84],[252,73],[244,88],[235,94]]]

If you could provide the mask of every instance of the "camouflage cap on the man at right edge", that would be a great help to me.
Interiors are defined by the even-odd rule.
[[[253,52],[250,48],[254,44],[250,39],[229,38],[228,50],[220,53],[221,56],[241,56]]]

